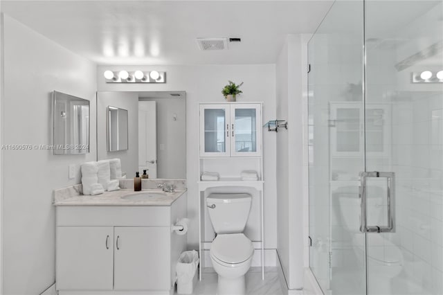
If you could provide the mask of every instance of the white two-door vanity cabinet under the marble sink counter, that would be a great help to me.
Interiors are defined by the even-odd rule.
[[[171,206],[57,206],[56,289],[63,294],[173,294],[186,193]]]

